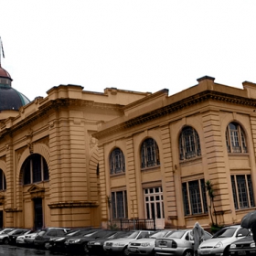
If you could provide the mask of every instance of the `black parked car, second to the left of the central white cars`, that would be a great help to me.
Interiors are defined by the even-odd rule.
[[[116,233],[117,230],[97,230],[90,234],[86,234],[77,238],[68,239],[65,241],[67,251],[72,252],[88,252],[87,243],[91,240],[101,240]]]

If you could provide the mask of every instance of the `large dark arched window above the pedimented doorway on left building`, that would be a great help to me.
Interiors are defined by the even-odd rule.
[[[22,165],[24,185],[48,180],[48,165],[42,155],[33,154],[27,157]]]

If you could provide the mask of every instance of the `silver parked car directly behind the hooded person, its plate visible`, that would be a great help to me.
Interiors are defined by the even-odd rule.
[[[205,231],[204,240],[212,237]],[[194,238],[192,229],[179,229],[165,236],[165,238],[155,240],[155,255],[194,255]]]

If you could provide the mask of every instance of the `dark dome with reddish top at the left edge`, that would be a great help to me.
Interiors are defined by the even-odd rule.
[[[0,64],[0,112],[18,111],[30,102],[24,94],[12,88],[11,83],[10,74]]]

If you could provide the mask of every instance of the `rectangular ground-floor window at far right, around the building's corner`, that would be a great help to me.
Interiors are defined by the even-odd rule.
[[[231,176],[231,184],[235,208],[254,207],[251,175]]]

